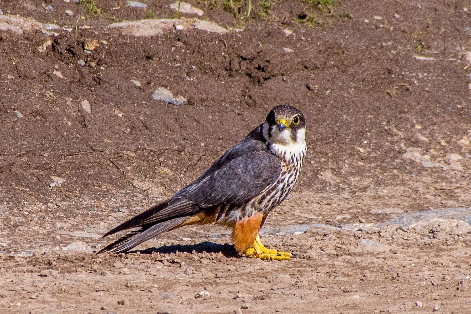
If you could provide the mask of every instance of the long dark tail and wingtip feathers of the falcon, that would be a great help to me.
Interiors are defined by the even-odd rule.
[[[140,230],[131,231],[107,245],[98,254],[106,251],[126,252],[144,241],[178,227],[200,211],[199,206],[185,198],[167,199],[108,231],[103,237],[118,231],[141,227]]]

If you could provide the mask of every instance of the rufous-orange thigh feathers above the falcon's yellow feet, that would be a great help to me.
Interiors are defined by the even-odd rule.
[[[234,248],[239,254],[245,254],[247,248],[250,248],[253,241],[257,238],[262,219],[263,214],[260,213],[235,223],[231,237],[234,240]]]

